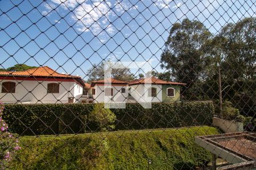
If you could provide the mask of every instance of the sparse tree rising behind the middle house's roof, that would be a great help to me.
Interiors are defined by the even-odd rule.
[[[125,66],[117,67],[117,65],[112,65],[112,62],[101,62],[99,65],[94,64],[93,67],[87,71],[89,77],[88,82],[104,79],[104,69],[106,64],[108,65],[108,68],[111,69],[111,77],[114,79],[129,81],[135,78],[130,69]]]

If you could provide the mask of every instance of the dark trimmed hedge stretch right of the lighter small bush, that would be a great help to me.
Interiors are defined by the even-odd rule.
[[[112,109],[117,116],[116,129],[179,128],[211,125],[212,101],[152,103],[144,109],[139,103],[127,103],[125,109]]]

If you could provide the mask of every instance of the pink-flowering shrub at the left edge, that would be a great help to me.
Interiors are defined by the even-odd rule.
[[[5,169],[20,146],[16,137],[7,131],[8,125],[3,120],[2,115],[3,105],[0,104],[0,168]]]

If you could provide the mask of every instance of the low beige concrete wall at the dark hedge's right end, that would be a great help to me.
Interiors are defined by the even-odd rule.
[[[243,131],[243,123],[213,117],[213,126],[217,126],[225,133]]]

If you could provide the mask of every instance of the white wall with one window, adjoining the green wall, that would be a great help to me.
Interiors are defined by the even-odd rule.
[[[156,88],[156,97],[148,96],[148,88],[155,87]],[[129,86],[131,88],[131,96],[134,97],[136,101],[139,102],[161,102],[162,101],[162,85],[160,84],[137,84],[133,86]]]

